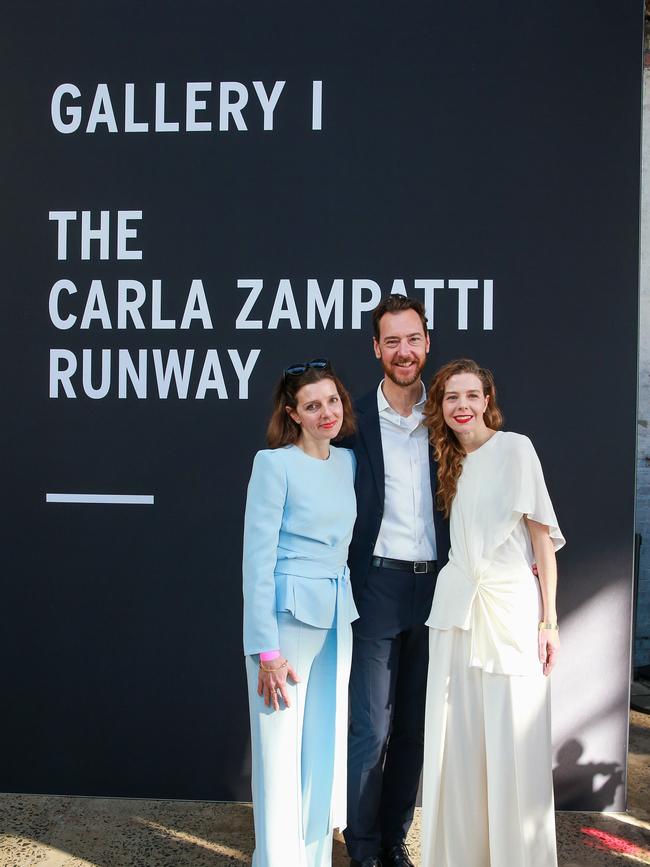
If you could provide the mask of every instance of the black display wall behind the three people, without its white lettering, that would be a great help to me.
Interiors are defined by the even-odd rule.
[[[642,4],[10,2],[0,35],[4,113],[0,364],[4,422],[0,789],[245,799],[247,711],[240,557],[245,488],[271,387],[325,355],[354,393],[379,369],[354,280],[434,291],[432,357],[492,367],[507,427],[541,455],[568,539],[560,555],[564,657],[554,675],[558,804],[624,804],[635,454]],[[254,81],[286,81],[264,130]],[[219,130],[220,82],[240,82],[247,130]],[[322,129],[312,82],[322,81]],[[155,85],[166,84],[155,132]],[[186,83],[211,82],[186,131]],[[56,88],[81,96],[55,128]],[[86,132],[98,84],[116,132]],[[135,120],[126,132],[125,84]],[[103,110],[107,109],[106,102]],[[64,122],[69,122],[67,115]],[[109,258],[80,256],[81,212],[110,212]],[[118,259],[118,211],[131,249]],[[57,258],[52,211],[73,211]],[[48,313],[68,279],[60,329]],[[263,280],[251,320],[238,280]],[[280,281],[297,321],[268,323]],[[343,321],[308,328],[308,280],[343,280]],[[459,329],[458,288],[468,289]],[[80,327],[100,280],[111,328]],[[118,281],[146,291],[144,328],[118,327]],[[212,327],[180,326],[201,280]],[[484,319],[492,281],[492,328]],[[286,287],[287,284],[281,284]],[[453,284],[452,284],[453,285]],[[489,284],[488,284],[489,285]],[[95,288],[97,284],[95,284]],[[133,293],[135,290],[129,290]],[[285,307],[286,307],[285,303]],[[462,312],[462,311],[461,311]],[[99,315],[99,314],[98,314]],[[488,317],[489,319],[489,317]],[[106,320],[104,324],[106,324]],[[463,324],[463,323],[461,323]],[[50,397],[50,351],[79,369]],[[91,398],[101,351],[111,380]],[[119,397],[119,350],[146,350],[146,398]],[[194,360],[187,397],[162,398],[154,350]],[[228,350],[260,354],[240,398]],[[225,391],[197,399],[208,350]],[[225,394],[227,393],[227,397]],[[46,494],[153,495],[153,505]],[[565,749],[562,751],[562,747]],[[597,770],[597,769],[600,770]],[[603,770],[603,768],[605,770]],[[609,773],[605,793],[594,775]],[[598,788],[598,786],[596,786]],[[606,803],[605,803],[606,801]]]

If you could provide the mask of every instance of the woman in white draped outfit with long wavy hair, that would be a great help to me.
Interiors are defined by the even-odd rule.
[[[490,371],[438,371],[425,423],[451,551],[427,621],[423,867],[557,865],[548,675],[564,538],[532,443],[502,422]]]

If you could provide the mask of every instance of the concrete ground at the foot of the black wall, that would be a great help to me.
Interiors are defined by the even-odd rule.
[[[637,697],[647,704],[643,687]],[[558,813],[560,867],[650,864],[649,756],[650,714],[633,711],[629,810]],[[0,795],[0,867],[243,867],[252,850],[250,804]],[[333,867],[347,864],[336,840]]]

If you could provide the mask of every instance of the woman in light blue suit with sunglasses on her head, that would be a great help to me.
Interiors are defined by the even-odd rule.
[[[288,367],[244,523],[244,653],[253,867],[330,867],[345,826],[347,684],[357,618],[346,565],[356,516],[348,393],[325,359]]]

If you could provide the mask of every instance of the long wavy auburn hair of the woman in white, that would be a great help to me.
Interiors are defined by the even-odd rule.
[[[424,424],[429,428],[429,442],[433,446],[438,463],[438,485],[436,505],[446,518],[451,512],[451,504],[456,496],[458,479],[463,469],[465,449],[456,434],[447,426],[442,414],[442,401],[447,381],[458,373],[473,373],[483,386],[483,394],[488,398],[485,410],[485,424],[492,430],[503,426],[503,415],[497,404],[497,390],[491,370],[479,367],[471,358],[458,358],[443,365],[437,371],[427,395],[424,406]]]

